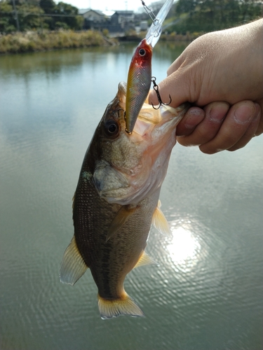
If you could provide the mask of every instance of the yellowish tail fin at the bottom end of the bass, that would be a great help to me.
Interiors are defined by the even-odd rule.
[[[104,299],[98,295],[98,305],[102,320],[121,315],[129,315],[133,317],[144,316],[142,309],[138,307],[127,293],[119,299]]]

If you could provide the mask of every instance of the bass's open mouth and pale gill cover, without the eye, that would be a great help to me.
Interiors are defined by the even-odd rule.
[[[161,187],[166,176],[170,153],[175,146],[177,123],[187,111],[161,106],[153,109],[144,102],[132,134],[125,131],[125,116],[119,113],[121,132],[112,144],[107,165],[96,165],[93,179],[98,193],[109,203],[136,204]],[[114,108],[125,109],[126,83],[119,83]],[[115,156],[114,156],[115,155]]]

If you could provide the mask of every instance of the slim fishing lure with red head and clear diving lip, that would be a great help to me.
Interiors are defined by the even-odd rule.
[[[146,6],[144,2],[142,2],[142,5]],[[147,13],[153,22],[147,31],[145,38],[137,46],[133,58],[131,59],[130,68],[128,71],[126,94],[126,131],[129,134],[133,132],[137,117],[149,93],[151,87],[152,50],[159,41],[163,21],[166,19],[172,5],[173,0],[167,0],[161,10],[159,10],[156,17],[151,9],[147,8],[146,6]]]

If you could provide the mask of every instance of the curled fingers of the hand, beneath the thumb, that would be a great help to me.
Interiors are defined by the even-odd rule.
[[[208,154],[236,151],[262,132],[260,106],[248,100],[233,106],[212,102],[203,109],[191,107],[176,130],[179,144],[199,146]]]

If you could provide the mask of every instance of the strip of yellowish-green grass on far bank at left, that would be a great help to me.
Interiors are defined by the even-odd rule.
[[[0,35],[0,53],[33,52],[59,48],[85,48],[107,45],[98,31],[27,31]]]

